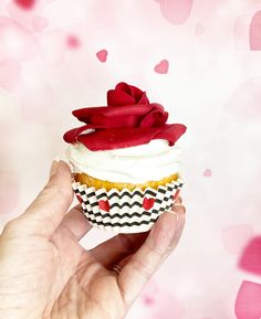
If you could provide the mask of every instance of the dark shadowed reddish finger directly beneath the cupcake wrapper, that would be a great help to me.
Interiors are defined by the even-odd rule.
[[[129,254],[134,254],[144,243],[148,233],[139,234],[118,234],[108,241],[94,247],[92,255],[111,269]]]

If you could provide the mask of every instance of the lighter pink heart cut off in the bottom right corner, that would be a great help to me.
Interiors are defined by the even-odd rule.
[[[238,291],[234,312],[239,319],[261,318],[261,285],[243,281]]]

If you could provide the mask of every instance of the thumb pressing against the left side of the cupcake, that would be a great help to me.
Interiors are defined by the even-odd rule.
[[[64,161],[54,161],[50,180],[27,211],[11,221],[17,232],[49,236],[59,226],[73,200],[71,171]]]

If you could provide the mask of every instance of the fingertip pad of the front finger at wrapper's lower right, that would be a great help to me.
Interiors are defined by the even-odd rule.
[[[159,254],[165,254],[171,245],[178,228],[178,214],[174,211],[164,213],[153,226],[148,244]]]

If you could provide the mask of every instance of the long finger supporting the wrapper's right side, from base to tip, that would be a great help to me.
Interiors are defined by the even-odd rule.
[[[160,215],[145,243],[123,267],[117,283],[127,307],[177,246],[185,224],[184,212],[185,209],[179,205]]]

